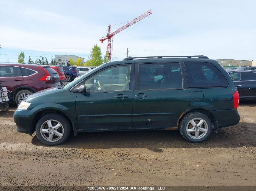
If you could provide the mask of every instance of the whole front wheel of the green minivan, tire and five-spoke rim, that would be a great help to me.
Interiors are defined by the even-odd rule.
[[[50,128],[48,125],[50,125]],[[49,146],[60,145],[65,142],[70,134],[70,130],[69,121],[57,113],[50,113],[43,116],[35,127],[38,140],[44,145]]]

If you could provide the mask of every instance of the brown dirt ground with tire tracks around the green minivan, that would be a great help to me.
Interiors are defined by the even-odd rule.
[[[240,123],[188,143],[178,131],[90,132],[44,146],[0,112],[0,186],[256,185],[256,102]]]

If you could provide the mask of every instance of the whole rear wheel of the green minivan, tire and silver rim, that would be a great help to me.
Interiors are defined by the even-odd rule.
[[[179,129],[188,142],[200,143],[210,137],[212,125],[211,120],[203,113],[191,112],[181,118]]]

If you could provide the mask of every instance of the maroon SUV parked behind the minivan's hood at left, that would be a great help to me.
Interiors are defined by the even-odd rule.
[[[0,81],[11,92],[10,100],[17,104],[37,91],[60,85],[54,69],[35,64],[0,64]]]

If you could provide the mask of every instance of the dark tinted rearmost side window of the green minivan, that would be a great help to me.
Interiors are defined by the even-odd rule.
[[[189,88],[227,87],[228,81],[216,66],[208,62],[184,62]]]

